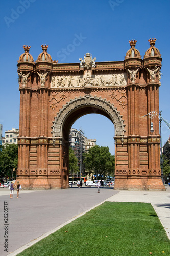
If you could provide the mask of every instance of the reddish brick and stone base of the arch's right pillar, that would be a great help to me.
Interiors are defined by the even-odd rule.
[[[159,190],[165,191],[161,177],[115,177],[114,190]]]

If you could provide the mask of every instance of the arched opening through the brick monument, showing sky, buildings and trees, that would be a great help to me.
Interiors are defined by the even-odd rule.
[[[109,179],[111,181],[114,180],[114,125],[110,119],[100,114],[88,114],[80,117],[71,127],[69,134],[69,151],[70,151],[70,159],[69,159],[69,184],[71,185],[71,181],[76,182],[81,177],[83,183],[87,180],[96,179],[96,173],[93,172],[93,168],[88,169],[84,163],[85,156],[89,150],[96,145],[96,148],[92,148],[92,152],[97,152],[100,150],[105,155],[106,163],[101,159],[101,163],[103,163],[102,168],[98,172],[98,177],[100,180]],[[70,148],[71,147],[71,148]],[[109,152],[108,152],[108,148]],[[94,150],[94,151],[93,151]],[[76,156],[78,160],[78,169],[73,168],[73,160],[74,156]],[[93,154],[93,153],[91,153]],[[96,153],[96,158],[98,158],[98,153]],[[112,161],[112,160],[113,161]],[[76,159],[75,159],[76,161]],[[112,162],[112,167],[107,169],[109,164]],[[77,167],[77,166],[76,166]],[[105,184],[105,185],[108,185]]]

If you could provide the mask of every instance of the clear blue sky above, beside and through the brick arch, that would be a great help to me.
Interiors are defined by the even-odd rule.
[[[167,0],[7,0],[1,1],[1,100],[0,123],[5,130],[19,127],[19,91],[17,60],[23,45],[37,59],[41,44],[48,44],[48,53],[59,63],[79,62],[90,52],[96,61],[124,60],[130,49],[129,40],[136,39],[136,48],[143,58],[150,47],[148,39],[156,38],[162,54],[161,87],[162,117],[169,117],[169,8]],[[71,48],[75,38],[80,44]],[[77,41],[78,42],[78,41]],[[66,50],[64,50],[66,49]],[[147,113],[146,113],[147,114]],[[73,125],[88,138],[96,138],[100,146],[109,146],[114,153],[114,126],[100,115],[86,115]],[[162,123],[162,144],[169,137]]]

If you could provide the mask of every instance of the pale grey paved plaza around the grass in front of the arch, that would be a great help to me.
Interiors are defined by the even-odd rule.
[[[78,218],[104,201],[151,203],[170,239],[170,188],[166,191],[125,191],[113,188],[74,186],[63,190],[20,190],[19,199],[9,198],[9,189],[1,188],[1,255],[17,255],[63,225]],[[6,203],[5,203],[6,202]],[[8,205],[8,225],[4,222],[4,204]],[[4,251],[5,231],[8,252]],[[2,243],[3,242],[3,243]]]

